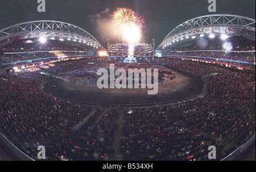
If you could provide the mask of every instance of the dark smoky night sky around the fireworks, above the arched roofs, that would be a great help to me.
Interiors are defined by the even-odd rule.
[[[126,7],[143,16],[144,40],[151,44],[155,38],[157,48],[177,25],[197,16],[234,14],[255,19],[255,0],[216,2],[217,11],[209,12],[208,0],[46,0],[46,12],[38,12],[37,0],[0,0],[0,29],[31,20],[64,21],[85,29],[106,48],[108,35],[99,28],[118,7]]]

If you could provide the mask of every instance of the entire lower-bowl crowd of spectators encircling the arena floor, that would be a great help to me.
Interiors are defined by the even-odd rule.
[[[91,66],[92,62],[96,65]],[[114,59],[86,58],[34,67],[55,75],[78,72],[84,76],[82,68],[93,70],[102,67],[102,62],[109,66]],[[216,146],[217,160],[221,160],[255,133],[255,74],[175,58],[151,63],[199,78],[209,75],[204,78],[207,94],[157,108],[125,109],[123,160],[208,160],[209,145]],[[139,68],[131,64],[127,67]],[[40,89],[48,76],[35,78],[34,71],[39,72],[27,71],[30,78],[0,75],[0,132],[35,160],[39,145],[46,147],[47,160],[113,157],[121,110],[110,109],[94,126],[73,131],[72,126],[96,107],[49,96]]]

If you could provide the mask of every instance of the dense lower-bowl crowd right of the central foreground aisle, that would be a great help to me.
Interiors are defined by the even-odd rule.
[[[126,109],[123,160],[221,160],[255,134],[255,74],[168,59],[168,66],[204,78],[207,95],[158,108]]]

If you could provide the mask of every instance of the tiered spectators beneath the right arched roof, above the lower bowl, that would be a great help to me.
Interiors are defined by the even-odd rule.
[[[228,37],[226,40],[200,37],[189,45],[164,50],[163,55],[192,56],[246,67],[249,65],[243,62],[255,63],[255,40],[241,36]]]

